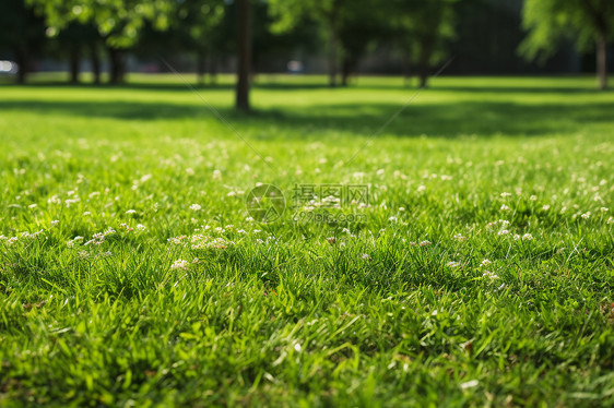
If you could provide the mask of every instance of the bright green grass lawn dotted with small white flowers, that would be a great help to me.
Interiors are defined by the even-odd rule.
[[[199,88],[234,130],[173,75],[50,80],[0,87],[0,405],[613,404],[593,79],[436,79],[373,139],[401,79]]]

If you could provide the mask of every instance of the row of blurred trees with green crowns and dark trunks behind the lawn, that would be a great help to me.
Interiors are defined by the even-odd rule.
[[[529,59],[551,57],[560,41],[578,49],[597,47],[600,87],[606,86],[607,46],[614,40],[611,0],[3,0],[0,51],[9,51],[23,83],[32,56],[69,62],[70,81],[80,81],[80,62],[91,61],[101,83],[102,61],[113,84],[125,81],[127,52],[152,57],[191,56],[198,82],[215,77],[220,61],[237,61],[236,106],[249,110],[249,82],[270,53],[327,56],[329,85],[346,86],[362,58],[388,47],[403,62],[406,77],[426,86],[435,65],[445,61],[460,35],[488,10],[511,12],[527,32],[520,51]],[[482,14],[481,14],[482,13]],[[505,14],[501,14],[505,15]],[[509,20],[508,21],[513,21]],[[461,23],[460,31],[458,29]],[[463,25],[464,24],[464,25]],[[506,27],[506,29],[515,28]],[[516,27],[521,36],[521,28]],[[469,33],[468,33],[469,29]],[[480,33],[476,40],[480,40]],[[506,38],[499,38],[499,41]],[[516,49],[519,40],[507,48]],[[474,41],[476,43],[476,41]],[[486,43],[484,43],[486,44]],[[467,48],[467,47],[465,47]],[[170,50],[170,51],[168,51]],[[495,56],[494,51],[484,53]],[[269,53],[270,52],[270,53]]]

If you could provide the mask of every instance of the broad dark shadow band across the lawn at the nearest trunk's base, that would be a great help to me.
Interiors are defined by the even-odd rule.
[[[217,107],[216,107],[217,108]],[[287,137],[309,133],[350,132],[369,136],[400,108],[397,104],[370,103],[314,105],[308,108],[274,108],[245,116],[228,108],[220,112],[239,129],[275,127],[287,130]],[[0,100],[0,109],[37,115],[64,115],[118,120],[216,120],[204,105],[138,101],[32,101]],[[410,105],[385,130],[394,136],[457,137],[460,135],[539,136],[569,134],[587,124],[614,125],[614,103],[520,105],[508,101],[458,101],[437,105]],[[260,135],[265,139],[267,136]]]

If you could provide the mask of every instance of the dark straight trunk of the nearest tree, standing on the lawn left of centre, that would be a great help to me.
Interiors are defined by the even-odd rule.
[[[249,0],[237,0],[238,7],[238,70],[236,107],[249,111],[249,71],[251,61],[251,22]]]

